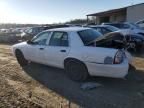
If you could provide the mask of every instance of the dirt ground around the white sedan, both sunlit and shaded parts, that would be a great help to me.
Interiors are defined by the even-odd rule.
[[[144,108],[144,55],[137,54],[128,79],[91,77],[102,84],[82,90],[64,70],[30,63],[20,67],[11,45],[0,44],[0,108]]]

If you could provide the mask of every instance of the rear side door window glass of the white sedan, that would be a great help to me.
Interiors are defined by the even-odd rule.
[[[54,32],[49,42],[50,46],[68,46],[68,34],[66,32]]]

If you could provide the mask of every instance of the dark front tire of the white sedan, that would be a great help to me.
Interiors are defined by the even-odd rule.
[[[26,66],[28,61],[24,58],[23,53],[20,50],[16,50],[16,58],[20,66]]]

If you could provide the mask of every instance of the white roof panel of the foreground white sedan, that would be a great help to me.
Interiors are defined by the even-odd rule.
[[[72,32],[72,31],[82,31],[82,30],[87,30],[90,28],[87,27],[63,27],[63,28],[55,28],[55,29],[49,29],[46,31],[65,31],[65,32]]]

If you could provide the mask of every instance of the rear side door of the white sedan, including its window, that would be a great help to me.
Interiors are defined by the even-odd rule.
[[[68,33],[54,31],[49,46],[45,49],[45,60],[47,64],[63,68],[63,62],[70,50]]]

